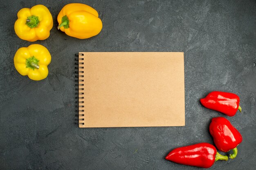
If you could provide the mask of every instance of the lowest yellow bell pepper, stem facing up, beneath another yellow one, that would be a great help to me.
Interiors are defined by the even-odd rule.
[[[14,66],[22,76],[32,80],[42,80],[48,75],[47,65],[51,62],[51,54],[44,46],[32,44],[19,48],[14,56]]]

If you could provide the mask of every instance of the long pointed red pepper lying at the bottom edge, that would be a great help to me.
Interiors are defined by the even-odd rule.
[[[165,157],[165,159],[183,165],[210,168],[215,161],[227,161],[228,157],[220,155],[216,148],[211,144],[199,143],[175,148]]]

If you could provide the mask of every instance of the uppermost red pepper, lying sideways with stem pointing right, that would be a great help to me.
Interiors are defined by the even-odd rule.
[[[205,98],[201,98],[200,102],[204,107],[219,111],[227,116],[234,116],[237,110],[242,111],[239,106],[240,98],[233,93],[211,92]]]

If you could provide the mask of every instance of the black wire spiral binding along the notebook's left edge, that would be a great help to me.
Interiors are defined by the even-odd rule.
[[[75,56],[78,57],[78,58],[75,58],[75,61],[78,61],[78,62],[75,62],[74,64],[75,65],[80,65],[80,66],[75,67],[75,69],[77,70],[77,71],[75,71],[75,74],[78,74],[78,75],[75,75],[75,78],[80,78],[80,77],[83,77],[83,75],[79,75],[80,73],[83,73],[83,71],[79,71],[79,69],[83,69],[83,66],[81,66],[81,65],[83,65],[83,62],[82,62],[83,58],[79,58],[79,56],[83,56],[83,54],[82,53],[77,53],[77,54],[75,54]],[[78,84],[75,84],[75,86],[77,86],[77,88],[75,90],[78,91],[75,94],[76,95],[84,94],[83,92],[79,92],[80,90],[84,89],[84,88],[79,87],[79,86],[84,85],[82,83],[83,80],[76,79],[75,82],[79,82]],[[77,114],[75,116],[78,117],[78,118],[75,119],[75,121],[76,121],[75,124],[84,124],[82,122],[79,122],[80,120],[84,120],[84,118],[81,118],[82,116],[84,116],[84,114],[82,114],[82,112],[84,112],[84,109],[82,109],[82,108],[84,108],[84,105],[81,104],[81,103],[84,103],[84,101],[79,101],[79,99],[83,99],[83,98],[84,97],[79,97],[79,96],[76,97],[76,99],[78,99],[78,101],[76,101],[76,108],[77,108],[76,112],[77,112]]]

